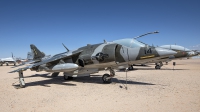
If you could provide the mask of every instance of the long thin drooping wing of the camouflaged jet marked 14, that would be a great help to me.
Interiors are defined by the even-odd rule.
[[[50,59],[47,59],[47,60],[44,60],[44,61],[32,64],[32,65],[29,65],[29,66],[26,66],[24,68],[19,68],[17,70],[11,71],[9,73],[14,73],[14,72],[19,72],[19,71],[25,71],[27,69],[30,69],[30,68],[33,68],[33,67],[37,67],[37,66],[40,66],[40,65],[43,65],[43,64],[54,64],[55,62],[57,62],[57,61],[59,61],[61,59],[71,58],[74,55],[79,55],[81,52],[82,51],[76,52],[74,54],[66,54],[66,55],[53,56]]]

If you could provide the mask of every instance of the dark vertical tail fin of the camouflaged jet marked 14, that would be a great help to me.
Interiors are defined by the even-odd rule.
[[[33,60],[41,60],[45,56],[45,54],[41,52],[35,45],[31,44],[30,47]]]

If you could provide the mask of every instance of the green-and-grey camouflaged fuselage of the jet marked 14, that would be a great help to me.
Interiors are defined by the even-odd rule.
[[[77,54],[78,53],[78,54]],[[49,58],[65,57],[34,67],[32,70],[48,72],[68,72],[70,74],[95,73],[106,67],[128,67],[136,63],[151,62],[166,58],[176,52],[149,46],[127,47],[118,43],[100,43],[87,45],[75,51],[61,53]],[[68,57],[68,55],[70,55]],[[44,60],[44,61],[48,61]]]

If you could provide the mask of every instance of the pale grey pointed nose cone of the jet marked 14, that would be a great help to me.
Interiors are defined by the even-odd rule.
[[[155,48],[156,51],[160,56],[170,56],[170,55],[175,55],[177,52],[170,50],[170,49],[164,49],[164,48]]]

